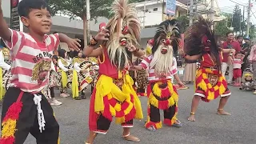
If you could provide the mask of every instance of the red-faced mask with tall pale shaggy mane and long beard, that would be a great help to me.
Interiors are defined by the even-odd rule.
[[[123,70],[128,63],[126,46],[138,45],[141,33],[137,11],[128,0],[116,0],[112,6],[114,18],[107,23],[106,29],[110,30],[110,39],[106,48],[112,64],[118,70]]]

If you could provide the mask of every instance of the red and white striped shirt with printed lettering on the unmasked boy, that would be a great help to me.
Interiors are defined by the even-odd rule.
[[[30,34],[10,30],[12,66],[10,86],[36,94],[49,80],[51,57],[59,44],[58,34],[45,35],[44,42],[37,42]]]

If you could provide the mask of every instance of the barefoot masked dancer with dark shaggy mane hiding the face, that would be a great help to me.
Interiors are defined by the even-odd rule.
[[[180,51],[184,58],[190,61],[202,59],[200,68],[196,72],[195,94],[192,100],[189,121],[195,121],[195,113],[200,98],[210,102],[221,97],[217,114],[230,115],[224,111],[224,106],[231,93],[227,87],[226,79],[222,75],[222,53],[234,57],[234,49],[221,49],[217,46],[214,33],[210,29],[211,22],[201,16],[185,33],[185,49]]]

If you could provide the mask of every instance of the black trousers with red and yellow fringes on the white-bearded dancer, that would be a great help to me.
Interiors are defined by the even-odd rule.
[[[165,86],[165,88],[160,88],[159,86]],[[154,126],[156,130],[162,128],[159,110],[164,111],[164,123],[167,126],[172,126],[177,120],[178,94],[170,80],[166,82],[150,82],[147,94],[149,94],[149,100],[145,127]]]

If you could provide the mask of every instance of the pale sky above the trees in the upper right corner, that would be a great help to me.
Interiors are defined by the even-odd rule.
[[[246,5],[248,6],[248,3],[249,3],[249,0],[217,0],[218,1],[218,6],[220,7],[220,10],[222,10],[223,12],[226,12],[226,13],[232,13],[233,10],[234,10],[234,6],[236,5],[235,2],[239,3],[240,5],[240,8],[241,10],[243,9],[243,6],[242,5]],[[232,2],[233,1],[233,2]],[[251,15],[251,22],[256,24],[256,2],[255,0],[251,0],[252,3],[253,3],[253,7],[252,7],[252,14]],[[254,16],[255,15],[255,16]],[[247,17],[247,10],[245,12],[245,16]]]

